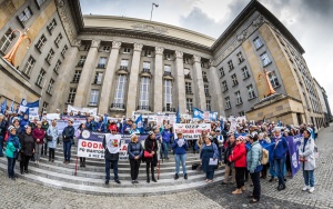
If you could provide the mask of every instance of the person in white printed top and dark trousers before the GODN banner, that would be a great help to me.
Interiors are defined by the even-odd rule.
[[[114,182],[120,183],[118,177],[118,160],[120,151],[121,136],[117,135],[117,128],[111,129],[111,133],[107,135],[103,139],[103,147],[105,149],[105,185],[110,181],[110,163],[113,166]]]

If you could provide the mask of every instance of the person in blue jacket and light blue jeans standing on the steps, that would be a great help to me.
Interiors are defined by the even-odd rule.
[[[183,176],[188,180],[186,172],[186,149],[189,148],[188,141],[183,138],[183,133],[179,131],[176,139],[173,141],[172,149],[174,150],[175,160],[175,175],[174,180],[179,179],[180,162],[182,162]]]

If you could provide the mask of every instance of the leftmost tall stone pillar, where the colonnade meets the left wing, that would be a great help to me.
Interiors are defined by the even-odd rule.
[[[65,53],[65,59],[62,62],[59,73],[60,76],[54,82],[53,86],[53,94],[51,97],[50,106],[49,106],[49,111],[50,112],[56,112],[57,109],[60,109],[60,111],[63,111],[64,103],[67,102],[68,99],[68,92],[69,92],[69,83],[73,79],[73,72],[77,61],[77,56],[79,52],[79,48],[81,46],[80,40],[73,41],[73,46],[69,48],[69,50]]]

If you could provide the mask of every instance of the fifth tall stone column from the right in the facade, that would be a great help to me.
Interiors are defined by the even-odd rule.
[[[138,79],[140,72],[140,58],[143,44],[134,43],[134,52],[130,71],[129,92],[127,101],[127,117],[132,117],[132,111],[135,111],[138,97]]]

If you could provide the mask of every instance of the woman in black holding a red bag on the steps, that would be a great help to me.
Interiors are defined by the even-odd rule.
[[[149,169],[151,170],[151,180],[153,182],[158,182],[155,177],[154,177],[154,167],[158,165],[158,141],[155,140],[155,133],[152,131],[149,131],[149,136],[144,141],[144,151],[147,153],[152,155],[152,157],[147,157],[144,155],[144,161],[145,161],[145,172],[147,172],[147,182],[150,182],[150,177],[149,177]]]

